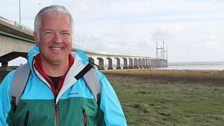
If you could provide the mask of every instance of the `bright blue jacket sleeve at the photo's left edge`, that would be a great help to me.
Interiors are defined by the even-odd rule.
[[[10,88],[14,72],[10,72],[0,84],[0,126],[8,126],[7,118],[11,109]]]

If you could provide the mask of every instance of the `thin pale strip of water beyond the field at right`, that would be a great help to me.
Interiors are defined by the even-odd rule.
[[[173,65],[165,70],[224,70],[224,64],[208,64],[208,65]]]

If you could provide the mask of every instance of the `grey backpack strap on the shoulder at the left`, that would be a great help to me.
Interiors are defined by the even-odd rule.
[[[28,63],[19,66],[15,71],[15,75],[12,80],[12,87],[10,90],[11,105],[14,111],[16,110],[20,97],[26,86],[29,74],[30,74],[30,67]]]

